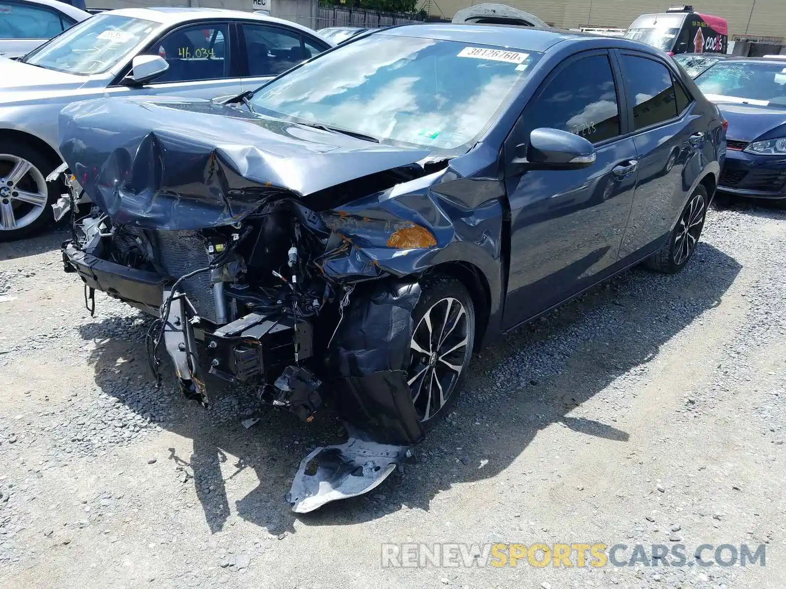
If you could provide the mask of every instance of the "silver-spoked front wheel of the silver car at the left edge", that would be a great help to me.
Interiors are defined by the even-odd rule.
[[[57,187],[46,184],[57,163],[28,145],[0,141],[0,241],[18,240],[53,220]]]

